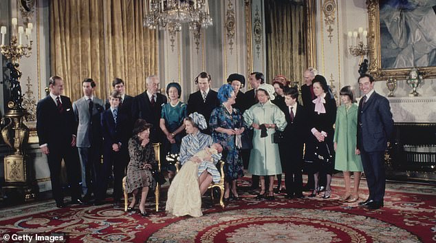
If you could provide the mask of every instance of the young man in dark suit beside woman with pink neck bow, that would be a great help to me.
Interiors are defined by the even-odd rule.
[[[284,93],[287,111],[285,112],[287,125],[285,127],[284,149],[285,184],[287,198],[303,198],[303,148],[305,136],[309,131],[307,127],[308,116],[306,109],[297,103],[298,89],[290,87]]]

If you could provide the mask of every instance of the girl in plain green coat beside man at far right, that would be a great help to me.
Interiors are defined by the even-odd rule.
[[[342,105],[336,114],[334,149],[336,151],[335,169],[343,171],[345,195],[342,202],[356,202],[359,199],[360,174],[363,171],[360,151],[356,148],[358,129],[358,105],[354,100],[351,86],[340,89]],[[354,175],[354,188],[351,193],[351,172]]]

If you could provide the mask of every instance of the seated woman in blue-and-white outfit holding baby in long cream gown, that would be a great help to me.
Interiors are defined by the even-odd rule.
[[[214,144],[211,136],[199,131],[207,128],[203,115],[190,114],[185,125],[187,135],[182,138],[179,158],[182,169],[168,189],[165,211],[175,216],[199,217],[203,215],[201,196],[212,181],[217,183],[221,179],[216,164],[223,148]]]

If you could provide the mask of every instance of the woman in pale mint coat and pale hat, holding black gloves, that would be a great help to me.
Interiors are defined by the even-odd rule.
[[[250,107],[243,118],[250,129],[254,129],[253,149],[250,153],[248,172],[260,176],[261,192],[258,199],[274,199],[274,176],[282,173],[279,146],[273,142],[275,130],[283,131],[287,125],[285,114],[271,103],[274,100],[274,87],[263,83],[257,91],[259,103]],[[265,189],[265,176],[270,180],[268,194]]]

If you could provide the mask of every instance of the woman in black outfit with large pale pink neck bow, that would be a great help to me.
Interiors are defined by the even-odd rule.
[[[312,80],[312,87],[316,98],[312,101],[312,106],[308,109],[310,129],[312,136],[309,136],[306,151],[314,151],[314,154],[305,154],[305,160],[312,160],[312,172],[314,173],[315,189],[309,197],[314,197],[319,193],[318,178],[320,173],[327,175],[327,184],[323,198],[331,196],[331,176],[334,171],[334,160],[326,162],[319,157],[334,156],[333,125],[336,120],[336,101],[329,94],[327,81],[324,76],[316,75]],[[317,149],[318,148],[318,149]],[[317,153],[318,155],[315,155]],[[313,158],[311,158],[313,156]]]

